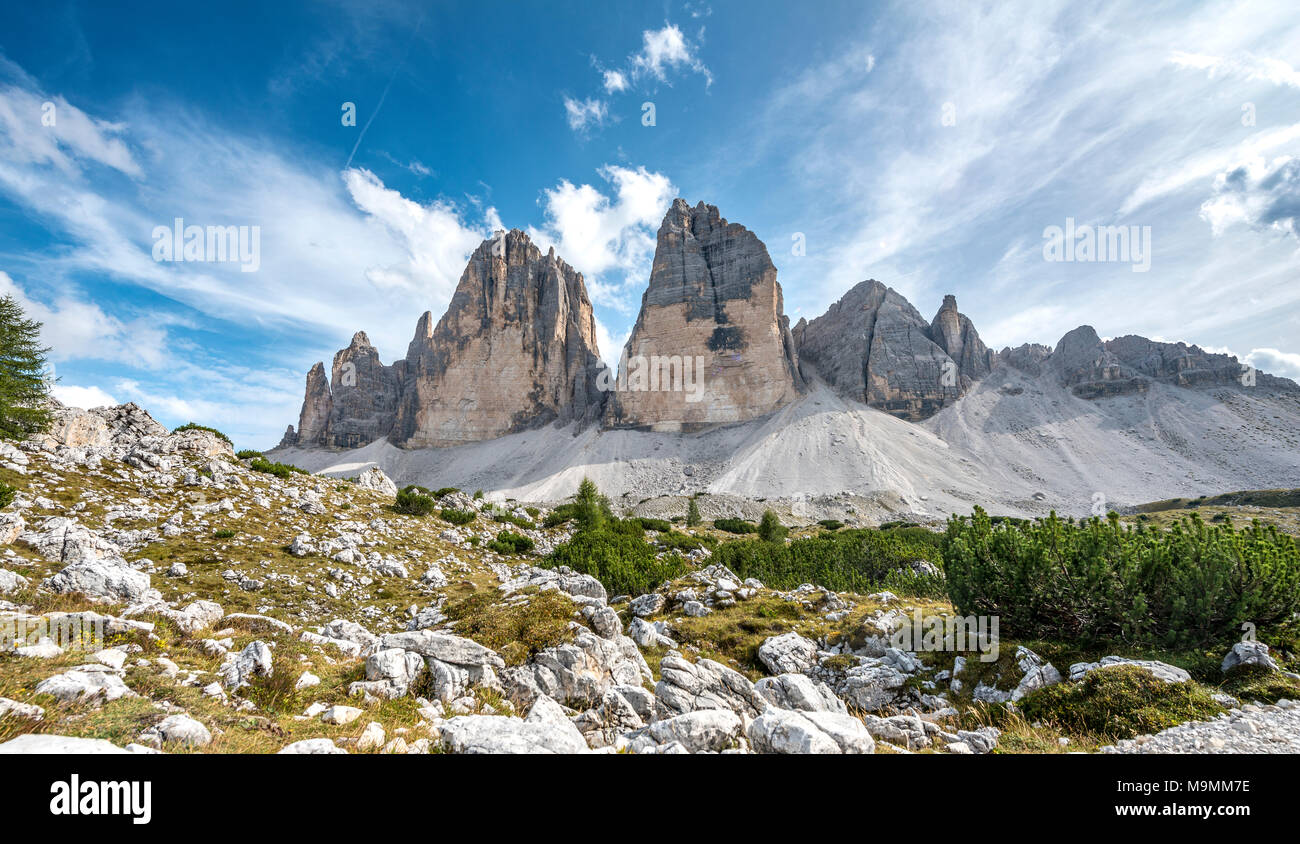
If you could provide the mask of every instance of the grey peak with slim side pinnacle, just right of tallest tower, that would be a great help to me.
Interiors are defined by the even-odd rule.
[[[840,394],[916,421],[988,375],[992,356],[953,297],[930,323],[892,287],[863,281],[796,329],[800,360]]]

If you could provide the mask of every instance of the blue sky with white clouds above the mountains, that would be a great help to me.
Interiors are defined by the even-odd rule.
[[[792,321],[874,277],[994,347],[1087,323],[1300,377],[1294,3],[200,7],[0,10],[0,293],[72,403],[273,445],[500,225],[614,360],[679,195],[758,233]],[[156,261],[176,217],[259,226],[256,272]],[[1067,218],[1150,226],[1149,269],[1045,260]]]

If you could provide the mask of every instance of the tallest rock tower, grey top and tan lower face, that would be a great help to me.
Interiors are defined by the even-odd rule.
[[[716,207],[675,200],[606,424],[692,430],[744,421],[794,401],[801,388],[767,248]]]

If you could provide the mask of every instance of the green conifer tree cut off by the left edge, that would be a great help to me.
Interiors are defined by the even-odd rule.
[[[12,295],[0,299],[0,438],[25,438],[49,427],[49,382],[40,323]]]

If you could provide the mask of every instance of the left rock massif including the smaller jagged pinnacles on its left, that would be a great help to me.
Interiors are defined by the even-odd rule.
[[[442,320],[420,317],[406,359],[384,365],[359,332],[328,380],[312,367],[298,432],[282,445],[448,446],[594,421],[602,369],[582,276],[523,231],[499,233],[471,256]]]

